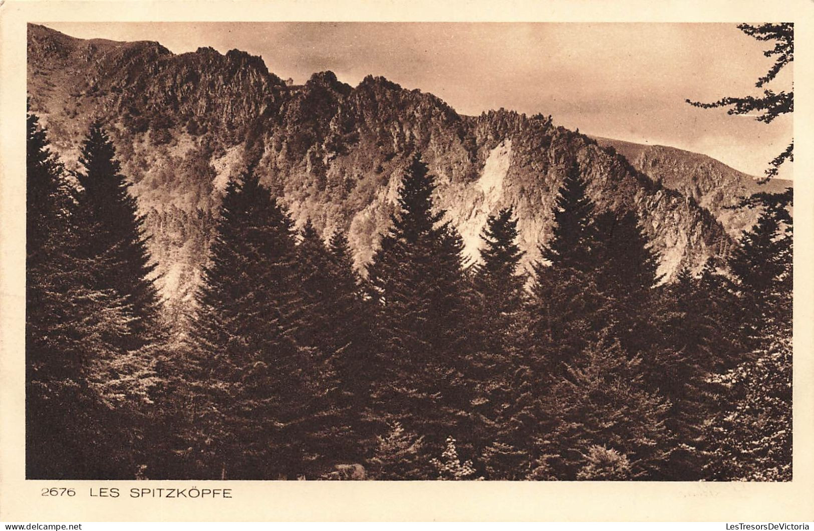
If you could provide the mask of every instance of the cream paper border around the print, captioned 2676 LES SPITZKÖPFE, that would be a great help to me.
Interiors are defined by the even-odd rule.
[[[2,2],[2,0],[0,0]],[[794,21],[794,481],[333,482],[25,481],[24,192],[26,23],[49,21]],[[630,520],[803,521],[814,519],[812,378],[812,197],[814,197],[814,1],[786,0],[282,0],[278,2],[80,2],[0,4],[0,520]],[[710,50],[711,54],[716,50]],[[762,72],[750,72],[757,76]],[[631,80],[635,83],[635,80]],[[473,90],[477,90],[473,87]],[[733,94],[737,95],[737,94]],[[710,111],[716,112],[716,111]],[[42,498],[42,487],[77,489]],[[120,498],[89,498],[116,486]],[[131,487],[230,488],[232,499],[128,498]]]

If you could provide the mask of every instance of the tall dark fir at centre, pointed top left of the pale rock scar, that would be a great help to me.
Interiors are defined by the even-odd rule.
[[[432,212],[434,188],[414,156],[399,188],[399,211],[368,268],[379,302],[374,401],[389,422],[425,437],[427,451],[466,421],[466,299],[462,240],[443,212]],[[427,457],[427,460],[429,457]]]

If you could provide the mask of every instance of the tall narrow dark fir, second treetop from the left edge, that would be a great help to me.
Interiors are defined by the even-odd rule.
[[[84,167],[75,173],[82,187],[77,195],[81,253],[94,263],[94,287],[112,289],[129,305],[133,318],[123,346],[136,349],[160,335],[160,301],[151,279],[155,264],[147,251],[144,217],[138,215],[116,149],[101,122],[90,126],[79,162]]]

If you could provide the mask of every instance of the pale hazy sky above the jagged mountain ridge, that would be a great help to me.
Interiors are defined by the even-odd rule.
[[[384,76],[462,114],[542,112],[582,133],[698,151],[753,175],[792,134],[791,116],[766,125],[685,103],[760,94],[769,45],[735,24],[44,24],[73,37],[158,41],[175,53],[237,48],[297,83],[323,70],[352,86]],[[790,90],[791,80],[787,66],[768,88]]]

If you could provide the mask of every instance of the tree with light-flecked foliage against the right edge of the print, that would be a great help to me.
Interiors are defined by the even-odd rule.
[[[715,375],[718,412],[705,472],[719,481],[790,481],[792,457],[792,191],[751,198],[764,206],[733,253],[735,306],[746,336],[737,366]]]

